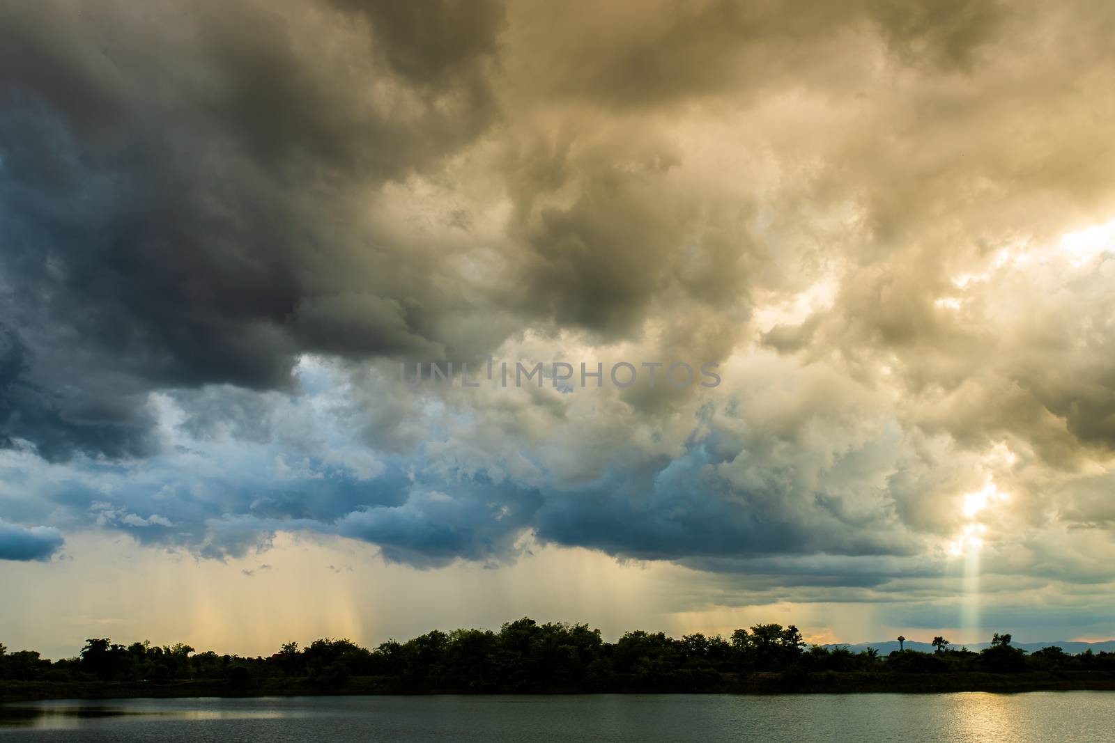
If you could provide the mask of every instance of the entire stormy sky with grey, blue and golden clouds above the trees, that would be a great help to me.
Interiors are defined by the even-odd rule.
[[[0,639],[1115,636],[1113,33],[0,0]]]

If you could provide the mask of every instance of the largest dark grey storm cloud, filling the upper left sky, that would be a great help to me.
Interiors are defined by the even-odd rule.
[[[123,409],[157,387],[289,388],[303,351],[437,354],[434,289],[400,282],[406,270],[369,275],[400,246],[353,229],[352,209],[358,192],[427,169],[494,120],[479,69],[497,9],[483,20],[448,4],[438,21],[366,6],[396,45],[385,68],[337,14],[129,8],[0,11],[4,306],[50,366],[19,383],[69,395],[79,381],[61,368],[84,354],[96,364],[85,374],[120,378],[105,404]],[[414,48],[443,47],[465,19],[478,36],[440,62]],[[310,30],[334,51],[300,36]],[[430,67],[407,62],[414,52]],[[414,270],[426,281],[420,260]],[[60,336],[78,348],[39,348]],[[51,442],[40,418],[37,436],[9,437],[54,458],[142,451],[65,432]]]

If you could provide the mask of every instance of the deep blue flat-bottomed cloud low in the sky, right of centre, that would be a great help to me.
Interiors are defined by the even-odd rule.
[[[547,493],[537,516],[539,538],[670,560],[775,554],[903,556],[923,547],[892,508],[872,508],[872,497],[856,492],[872,477],[869,461],[859,471],[852,463],[808,462],[822,469],[823,479],[809,488],[806,461],[787,461],[778,453],[780,447],[734,434],[715,422],[710,408],[701,418],[680,457],[641,467],[627,462],[585,488]],[[763,448],[768,448],[769,459],[753,465]],[[852,460],[855,453],[845,456]],[[748,468],[759,470],[762,479],[738,476]],[[844,482],[849,476],[855,481],[852,487]]]

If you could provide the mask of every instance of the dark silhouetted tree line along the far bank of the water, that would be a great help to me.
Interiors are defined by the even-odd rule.
[[[900,641],[904,641],[901,637]],[[77,657],[48,661],[35,651],[10,653],[0,644],[0,678],[45,682],[220,681],[251,687],[265,680],[308,680],[339,685],[357,676],[382,677],[399,691],[536,692],[672,690],[723,686],[744,675],[788,677],[834,674],[946,674],[1031,671],[1115,672],[1115,654],[1068,655],[1059,647],[1027,654],[996,634],[991,646],[972,652],[933,638],[933,653],[900,649],[886,656],[869,648],[807,646],[794,625],[758,624],[728,637],[700,633],[680,638],[633,630],[614,643],[585,624],[539,624],[522,618],[498,632],[433,630],[405,643],[389,639],[369,649],[350,639],[290,642],[268,657],[197,653],[184,644],[123,645],[86,641]]]

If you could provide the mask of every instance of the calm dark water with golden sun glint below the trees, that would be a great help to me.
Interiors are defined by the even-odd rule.
[[[1107,742],[1115,692],[51,701],[0,740]]]

